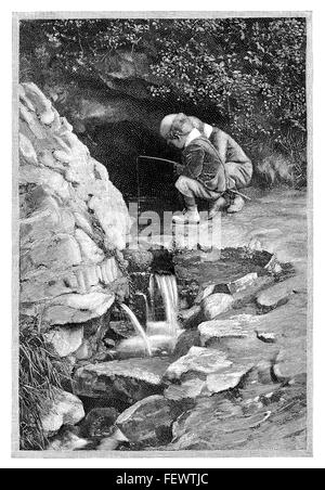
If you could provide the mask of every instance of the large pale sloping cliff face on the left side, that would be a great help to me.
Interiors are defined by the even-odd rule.
[[[20,87],[20,205],[22,313],[43,330],[103,315],[126,286],[128,209],[34,83]]]

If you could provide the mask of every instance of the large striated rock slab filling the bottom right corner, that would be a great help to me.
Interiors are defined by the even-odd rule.
[[[268,388],[269,390],[269,388]],[[306,387],[278,389],[268,405],[256,404],[247,413],[238,401],[220,396],[202,398],[191,412],[184,413],[173,424],[173,440],[159,448],[182,450],[255,450],[261,455],[270,450],[307,449]]]

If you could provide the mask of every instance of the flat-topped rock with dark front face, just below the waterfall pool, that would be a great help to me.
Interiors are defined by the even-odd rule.
[[[167,359],[130,359],[89,364],[77,370],[74,390],[90,398],[119,399],[134,403],[161,394]]]

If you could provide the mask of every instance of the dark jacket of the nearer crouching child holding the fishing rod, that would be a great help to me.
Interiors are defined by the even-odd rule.
[[[226,190],[224,164],[207,138],[196,138],[184,149],[182,164],[183,176],[198,180],[209,191]]]

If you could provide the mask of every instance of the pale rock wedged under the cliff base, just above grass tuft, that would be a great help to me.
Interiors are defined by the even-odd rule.
[[[60,327],[44,334],[44,338],[61,358],[66,358],[81,346],[83,328],[79,326]]]

